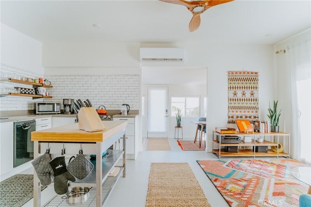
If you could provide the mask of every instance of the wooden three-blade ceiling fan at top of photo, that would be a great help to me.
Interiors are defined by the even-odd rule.
[[[212,6],[216,6],[218,4],[227,3],[233,0],[198,0],[198,1],[186,1],[186,0],[160,0],[173,4],[184,5],[188,8],[188,10],[192,13],[192,18],[189,23],[189,31],[193,32],[197,30],[201,23],[200,14],[205,12]]]

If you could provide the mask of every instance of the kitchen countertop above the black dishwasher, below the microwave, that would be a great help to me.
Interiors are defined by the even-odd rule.
[[[0,117],[0,123],[9,122],[9,121],[26,121],[33,120],[37,118],[45,118],[45,117],[77,117],[76,114],[29,114],[29,115],[20,115],[20,116],[6,116]],[[3,119],[8,118],[8,119]]]

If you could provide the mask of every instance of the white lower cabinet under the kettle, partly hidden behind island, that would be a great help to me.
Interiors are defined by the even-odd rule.
[[[135,124],[137,124],[136,122],[136,118],[113,118],[114,121],[118,121],[118,120],[122,120],[122,121],[127,121],[127,127],[125,128],[125,144],[126,144],[126,158],[127,159],[135,159],[137,156],[137,149],[135,147],[135,142],[136,140],[136,127]],[[116,148],[119,148],[119,143],[117,144]],[[122,149],[122,143],[120,142],[120,148]]]

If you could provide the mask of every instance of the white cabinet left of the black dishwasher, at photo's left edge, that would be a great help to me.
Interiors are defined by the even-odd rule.
[[[13,170],[14,122],[0,123],[0,174]]]

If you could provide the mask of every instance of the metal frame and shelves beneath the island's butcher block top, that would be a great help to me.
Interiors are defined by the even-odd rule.
[[[122,150],[109,150],[110,146],[116,143],[119,139],[123,139],[123,149]],[[86,176],[86,178],[80,180],[76,179],[75,182],[69,182],[70,187],[89,187],[91,188],[89,193],[90,196],[87,201],[79,206],[88,206],[88,207],[99,207],[103,206],[104,202],[115,186],[115,183],[122,175],[125,177],[125,130],[121,130],[110,138],[105,139],[103,142],[52,142],[52,141],[34,141],[34,155],[39,153],[43,153],[42,150],[45,149],[48,143],[58,143],[62,145],[62,143],[66,143],[67,145],[76,145],[78,144],[87,144],[87,148],[83,148],[84,154],[94,154],[96,155],[96,159],[90,159],[93,163],[94,168],[92,172]],[[55,145],[54,145],[55,146]],[[102,157],[102,153],[104,151],[108,152],[108,155]],[[44,150],[43,150],[44,151]],[[119,160],[123,161],[123,165],[120,166],[120,171],[116,177],[108,176],[109,173],[113,170]],[[119,166],[118,166],[119,167]],[[37,183],[38,179],[34,176],[34,182]],[[49,186],[53,186],[53,183]],[[34,205],[40,206],[40,196],[41,191],[34,188]],[[47,207],[55,207],[55,206],[70,206],[67,204],[65,199],[62,199],[63,195],[54,196],[45,206]]]

